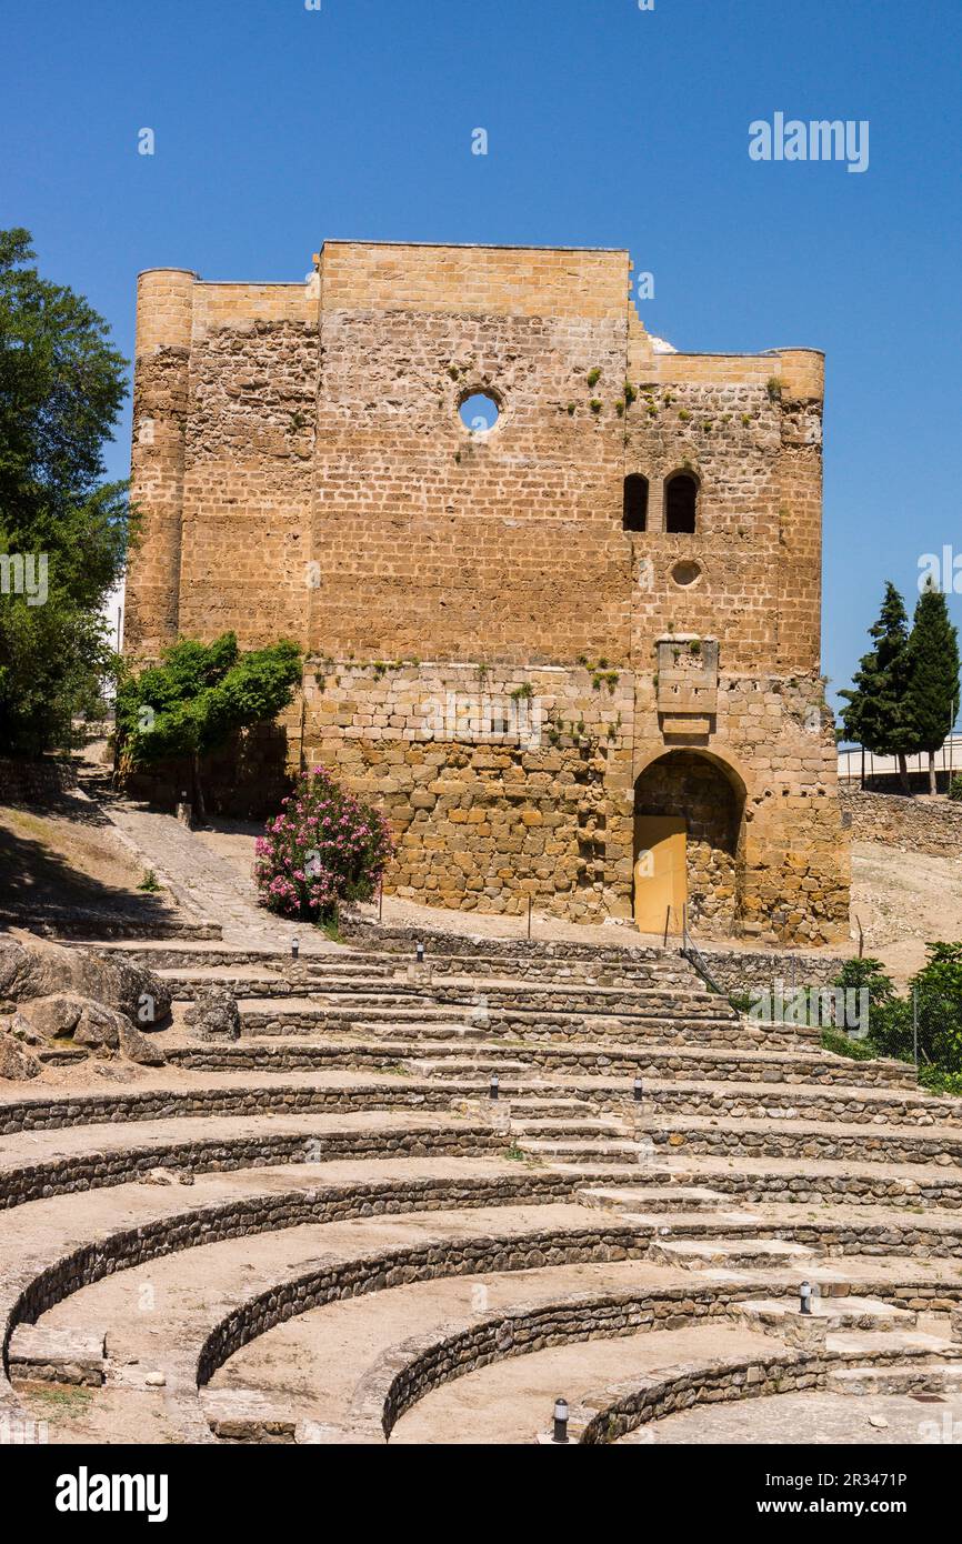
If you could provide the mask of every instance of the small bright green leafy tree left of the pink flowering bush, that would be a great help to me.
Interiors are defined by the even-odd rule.
[[[117,690],[117,766],[184,757],[193,769],[195,808],[205,818],[201,760],[236,729],[275,718],[301,679],[301,650],[281,641],[238,650],[235,633],[212,644],[181,639],[161,664],[127,676]]]

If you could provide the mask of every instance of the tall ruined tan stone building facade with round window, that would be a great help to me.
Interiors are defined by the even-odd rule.
[[[338,241],[301,284],[142,273],[125,647],[301,642],[289,766],[384,808],[397,894],[835,940],[823,358],[673,352],[628,281]]]

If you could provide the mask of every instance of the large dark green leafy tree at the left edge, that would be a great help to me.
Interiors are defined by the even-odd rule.
[[[0,747],[23,755],[97,710],[114,667],[102,607],[130,537],[102,455],[125,361],[32,258],[29,232],[0,230]]]

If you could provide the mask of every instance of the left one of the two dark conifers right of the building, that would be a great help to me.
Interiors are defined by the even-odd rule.
[[[874,647],[862,656],[852,692],[840,692],[845,735],[879,757],[897,757],[902,787],[909,792],[906,755],[916,750],[908,718],[908,615],[894,584],[885,587],[879,621],[869,628]]]

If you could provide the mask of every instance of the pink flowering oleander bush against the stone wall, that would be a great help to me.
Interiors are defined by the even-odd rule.
[[[338,787],[326,767],[313,767],[255,851],[261,905],[283,917],[332,922],[341,902],[371,899],[394,841],[377,809]]]

